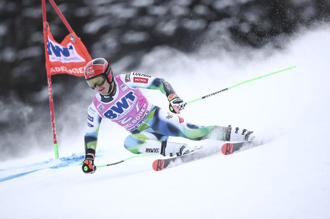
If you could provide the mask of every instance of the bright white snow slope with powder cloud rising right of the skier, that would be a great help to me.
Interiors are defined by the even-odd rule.
[[[329,28],[324,27],[297,35],[285,42],[289,43],[285,51],[272,55],[266,49],[242,49],[208,56],[205,51],[212,46],[194,55],[169,48],[150,52],[139,72],[166,78],[186,101],[296,65],[294,70],[191,103],[182,112],[196,124],[255,130],[268,142],[160,172],[152,170],[155,158],[148,157],[84,175],[77,162],[83,132],[77,128],[77,134],[60,136],[62,142],[70,142],[60,155],[70,158],[77,153],[71,156],[75,161],[71,165],[49,160],[50,151],[1,163],[0,218],[329,219],[329,41]],[[167,107],[159,91],[145,94],[154,104]],[[131,156],[123,147],[127,134],[102,121],[96,163]],[[34,172],[17,175],[29,171]],[[4,179],[13,175],[17,177]]]

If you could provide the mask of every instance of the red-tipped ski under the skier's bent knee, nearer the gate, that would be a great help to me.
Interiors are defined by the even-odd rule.
[[[210,148],[201,148],[197,151],[191,152],[186,155],[182,155],[180,157],[172,157],[167,159],[157,159],[152,162],[152,169],[155,171],[161,171],[164,169],[168,169],[174,166],[181,165],[183,163],[187,163],[190,161],[196,161],[202,158],[206,158],[216,152],[218,152],[219,149],[215,150]]]

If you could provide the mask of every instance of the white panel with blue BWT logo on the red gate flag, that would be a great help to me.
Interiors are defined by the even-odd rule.
[[[68,43],[65,46],[58,44],[48,38],[47,50],[49,54],[49,61],[66,62],[85,62],[78,53],[73,44]]]

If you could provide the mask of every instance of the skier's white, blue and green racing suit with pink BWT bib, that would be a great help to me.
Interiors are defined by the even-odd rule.
[[[97,93],[88,107],[85,153],[95,154],[99,126],[108,118],[131,132],[126,149],[134,154],[181,155],[186,144],[168,142],[169,136],[190,140],[247,140],[247,130],[238,132],[231,127],[193,125],[177,114],[152,105],[139,88],[158,89],[166,97],[174,94],[171,85],[162,78],[141,73],[121,74],[114,78],[114,96]]]

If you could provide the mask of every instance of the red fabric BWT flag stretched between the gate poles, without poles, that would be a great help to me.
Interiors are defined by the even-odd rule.
[[[61,44],[57,43],[48,25],[47,51],[50,75],[66,73],[83,76],[84,66],[92,60],[85,45],[75,32],[68,34]]]

